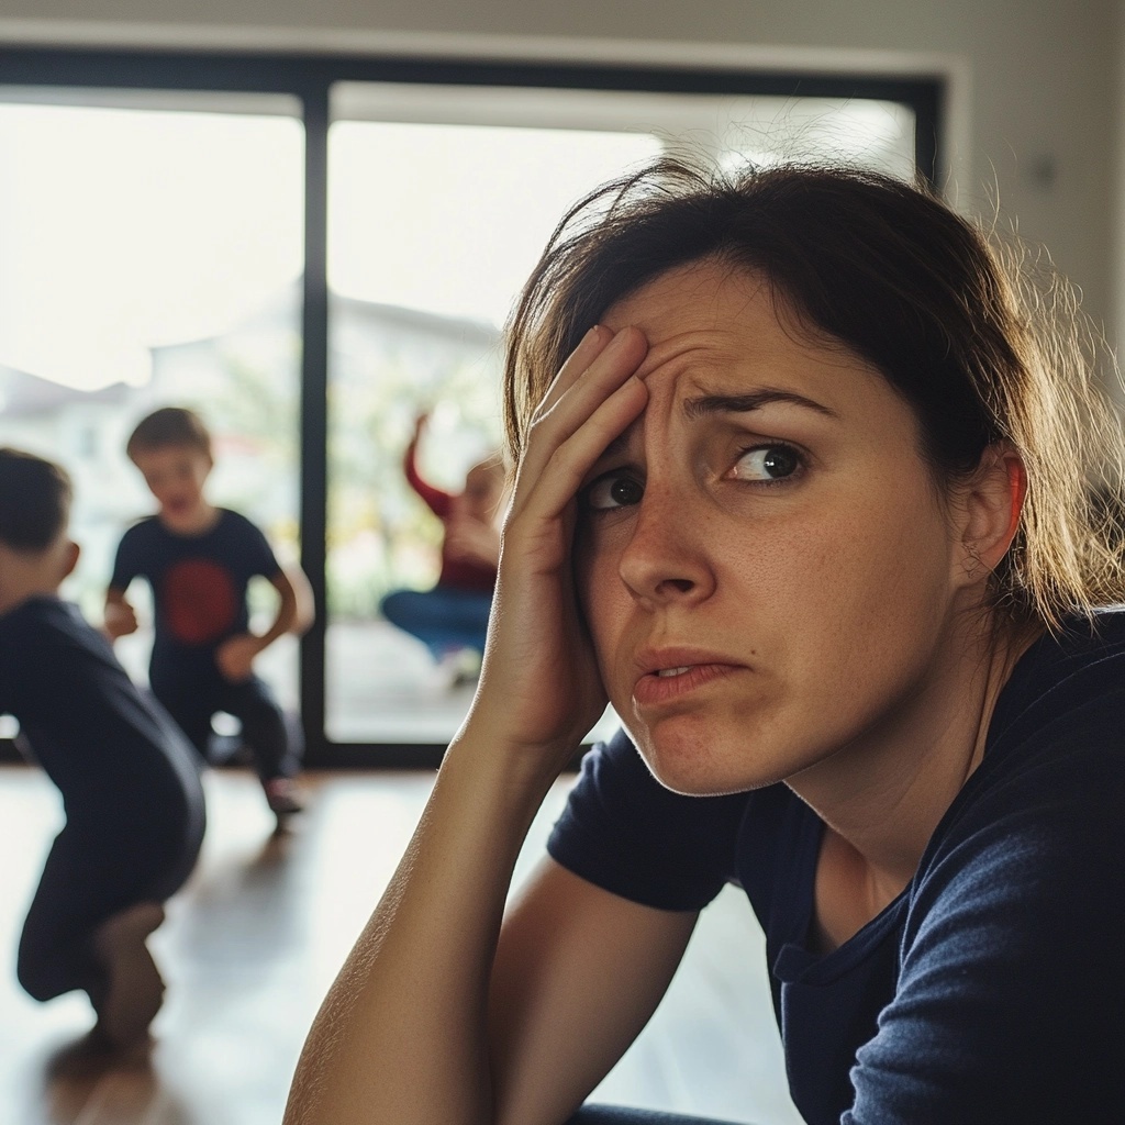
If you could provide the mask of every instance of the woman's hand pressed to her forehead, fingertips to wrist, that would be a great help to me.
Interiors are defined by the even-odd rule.
[[[496,597],[470,722],[507,745],[550,749],[554,776],[605,709],[575,597],[577,493],[606,446],[645,410],[638,328],[594,327],[533,417],[502,533]]]

